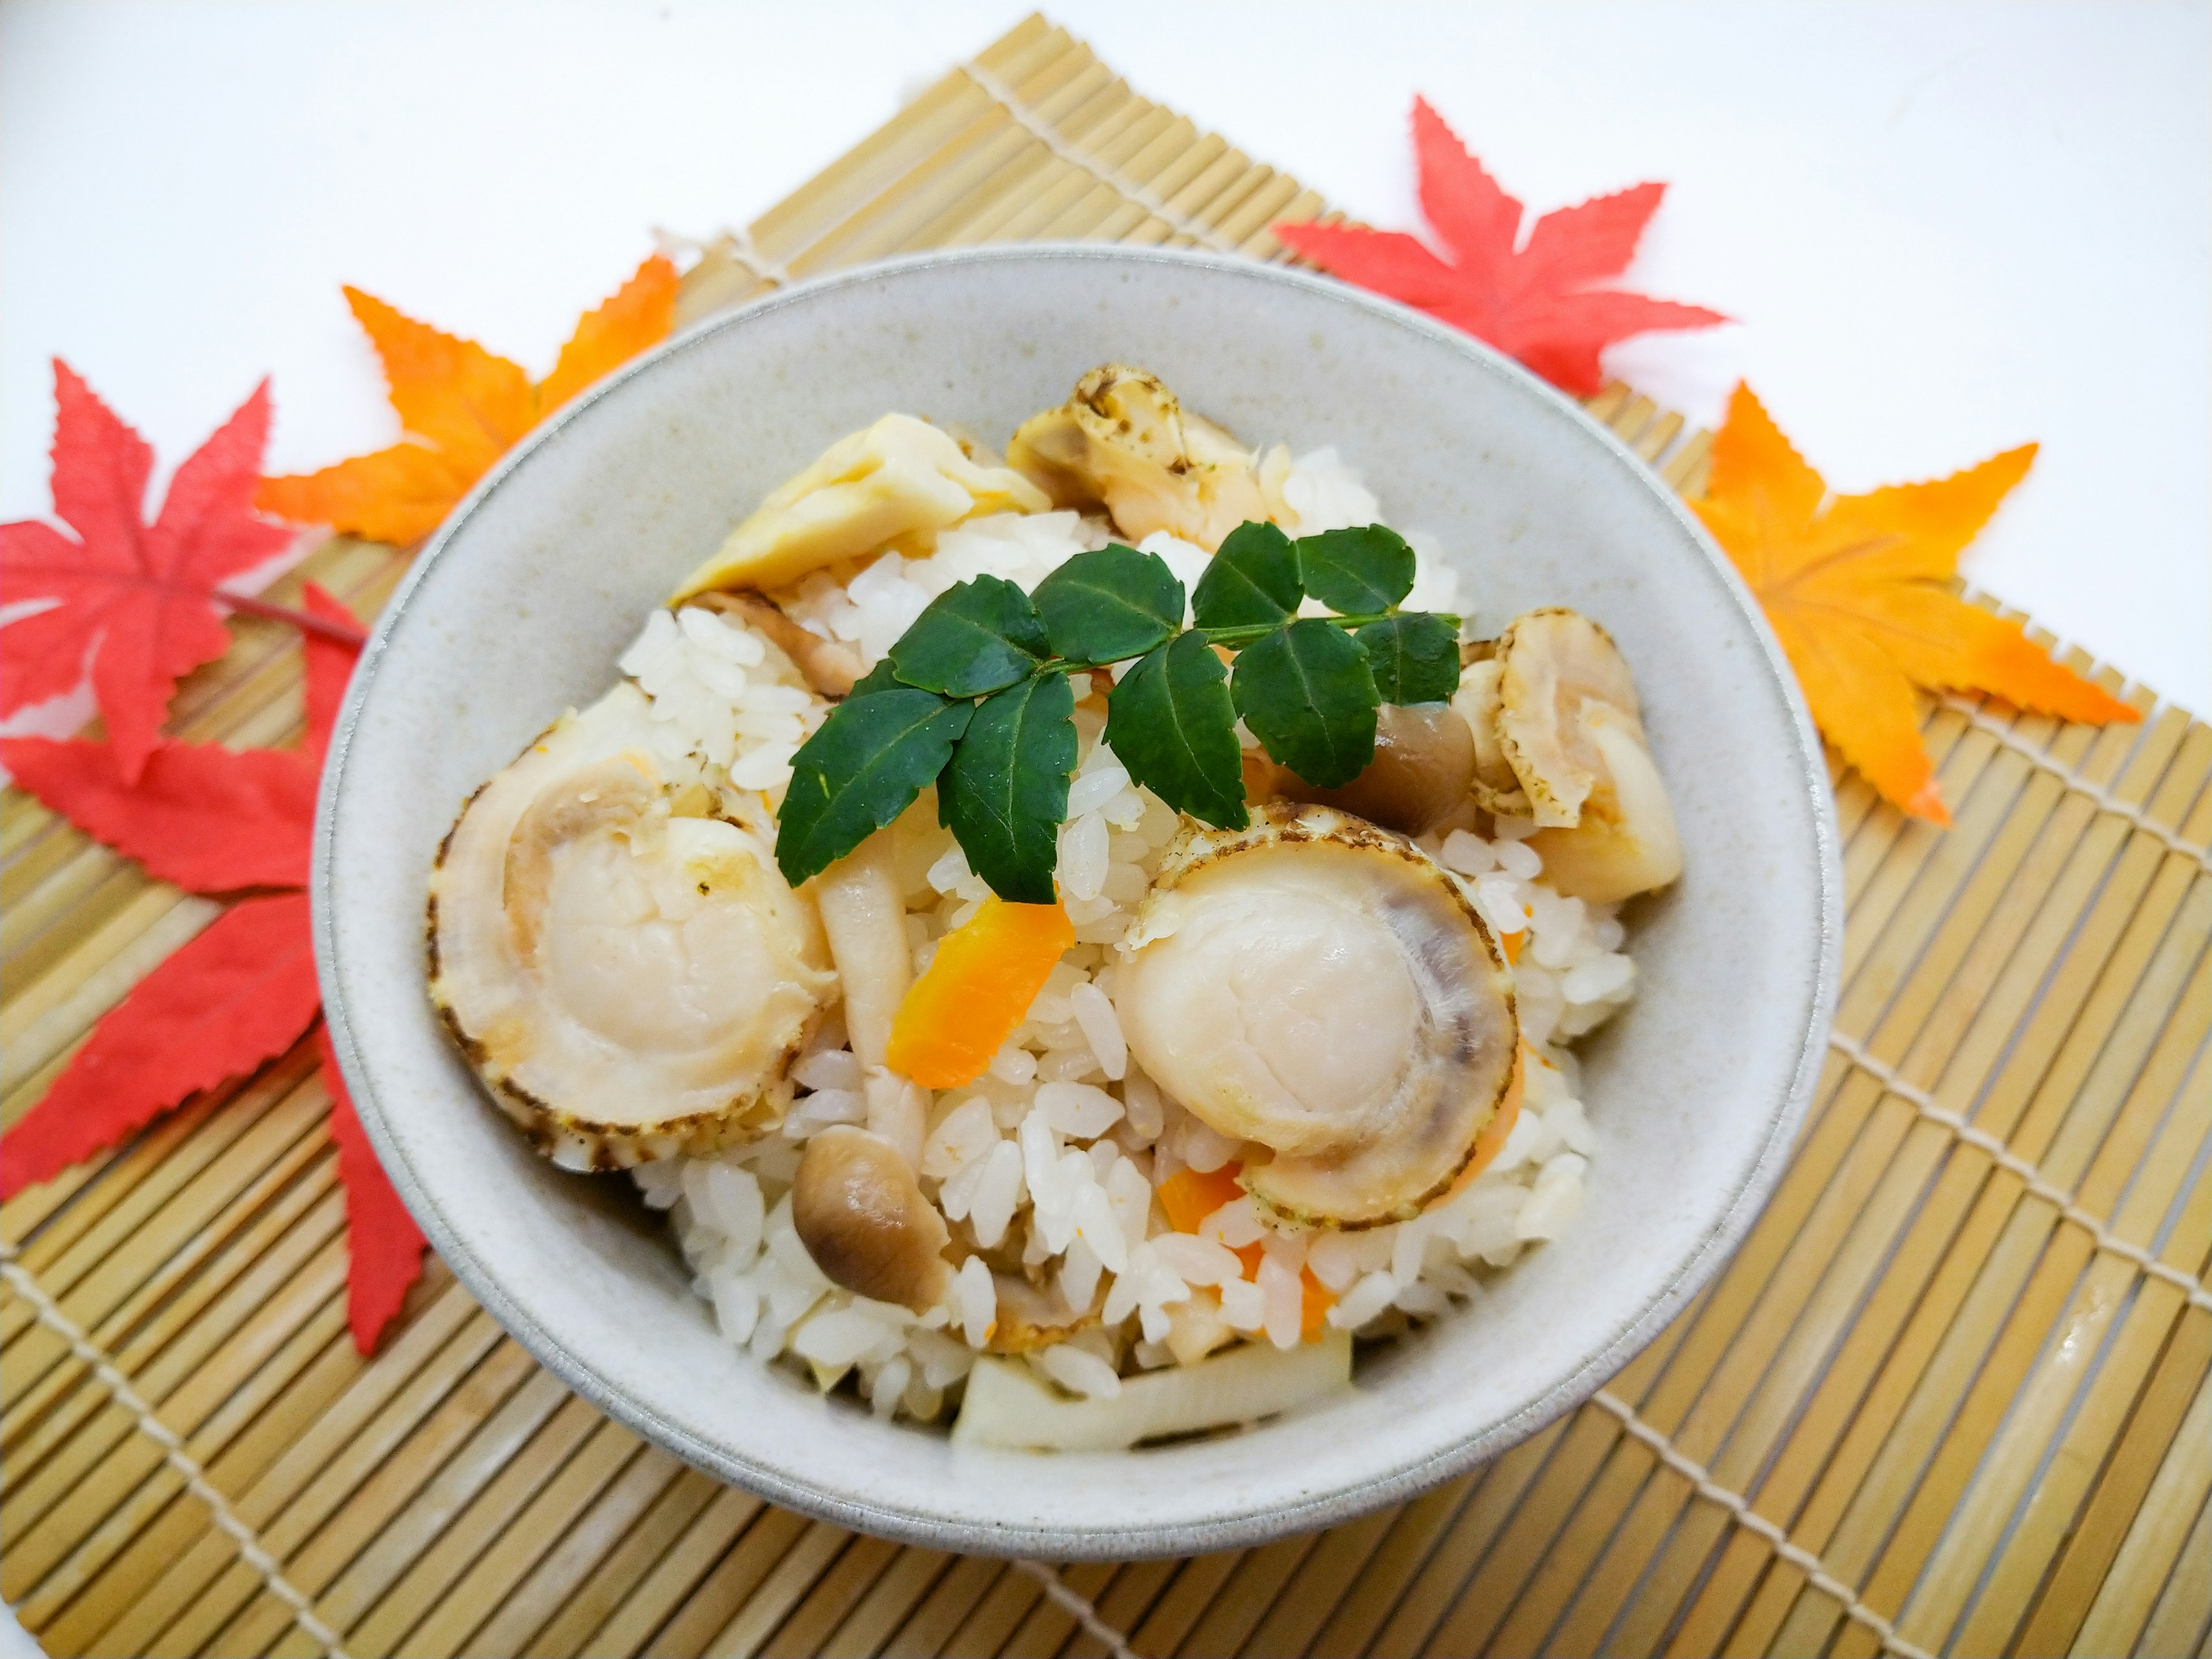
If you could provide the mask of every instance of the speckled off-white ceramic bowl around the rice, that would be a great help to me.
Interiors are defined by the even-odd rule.
[[[1686,874],[1632,916],[1639,1000],[1586,1044],[1588,1201],[1356,1391],[1197,1444],[953,1449],[730,1352],[622,1177],[544,1164],[422,993],[422,891],[462,799],[593,699],[646,611],[772,484],[885,409],[1004,436],[1104,361],[1248,442],[1336,445],[1433,531],[1464,608],[1604,622],[1681,816]],[[1725,560],[1613,436],[1498,354],[1294,272],[993,248],[712,319],[529,438],[389,606],[338,721],[314,865],[325,1009],[431,1243],[546,1367],[701,1469],[938,1548],[1214,1551],[1411,1498],[1568,1411],[1705,1283],[1783,1168],[1843,938],[1820,748]]]

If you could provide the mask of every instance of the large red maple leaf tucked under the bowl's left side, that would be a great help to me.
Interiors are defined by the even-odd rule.
[[[305,604],[332,633],[361,633],[354,613],[323,588],[310,584]],[[252,1075],[314,1024],[314,933],[307,896],[296,889],[307,883],[316,772],[354,650],[323,635],[305,644],[305,750],[157,739],[131,783],[108,743],[0,743],[0,761],[24,790],[161,880],[199,894],[294,889],[241,898],[102,1015],[44,1099],[7,1133],[0,1199],[190,1095]],[[347,1316],[354,1345],[367,1354],[422,1272],[422,1234],[369,1150],[327,1035],[319,1042],[345,1183]]]

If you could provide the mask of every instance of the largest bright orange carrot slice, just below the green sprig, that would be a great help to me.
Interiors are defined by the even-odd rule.
[[[891,1071],[922,1088],[975,1082],[1073,942],[1075,922],[1060,905],[982,900],[907,987],[885,1055]]]

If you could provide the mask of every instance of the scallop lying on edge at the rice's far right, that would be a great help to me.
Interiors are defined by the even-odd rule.
[[[1562,894],[1613,905],[1681,874],[1681,834],[1613,635],[1531,611],[1475,646],[1451,703],[1475,734],[1475,796],[1535,818],[1528,845]]]

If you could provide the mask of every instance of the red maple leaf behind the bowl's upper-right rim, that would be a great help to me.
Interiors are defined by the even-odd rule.
[[[1546,212],[1515,248],[1522,204],[1467,153],[1427,100],[1413,100],[1420,210],[1451,263],[1402,230],[1285,223],[1274,234],[1345,281],[1389,294],[1520,358],[1553,385],[1590,396],[1599,352],[1630,334],[1725,323],[1703,305],[1593,288],[1628,268],[1644,223],[1666,195],[1639,184]]]

